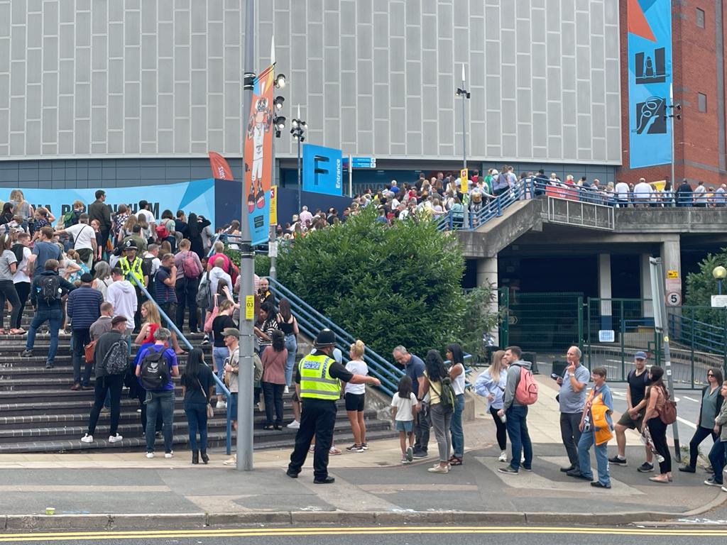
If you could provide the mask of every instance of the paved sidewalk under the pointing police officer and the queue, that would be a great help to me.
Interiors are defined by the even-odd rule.
[[[533,472],[497,472],[494,424],[480,398],[465,424],[465,464],[447,475],[427,472],[430,458],[402,466],[398,440],[371,442],[369,451],[332,456],[332,485],[313,484],[312,456],[298,479],[285,475],[290,449],[256,451],[254,471],[143,453],[7,454],[0,456],[0,530],[58,528],[174,528],[231,524],[539,523],[623,524],[697,520],[720,509],[727,493],[703,484],[707,474],[677,471],[668,485],[636,472],[643,461],[638,435],[627,435],[629,467],[611,467],[613,488],[592,488],[559,471],[561,445],[556,385],[537,377],[539,401],[530,408]],[[615,439],[609,456],[615,452]],[[338,445],[345,448],[347,445]],[[509,454],[509,453],[508,453]],[[592,456],[595,464],[595,457]],[[651,474],[653,475],[653,474]],[[55,514],[47,515],[52,507]]]

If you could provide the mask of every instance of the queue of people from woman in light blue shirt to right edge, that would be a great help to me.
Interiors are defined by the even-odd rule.
[[[484,397],[489,405],[497,429],[497,443],[500,448],[499,461],[507,463],[507,437],[510,438],[511,456],[506,466],[499,471],[517,475],[521,469],[532,470],[533,450],[530,440],[527,415],[533,397],[523,394],[531,376],[530,363],[521,360],[519,347],[508,347],[492,355],[489,368],[475,381],[474,391]],[[670,400],[664,384],[664,369],[659,366],[646,368],[646,352],[638,351],[634,356],[634,368],[627,376],[627,410],[614,424],[611,389],[606,384],[606,368],[596,367],[588,371],[581,363],[581,351],[570,347],[566,353],[568,365],[562,374],[553,374],[560,387],[558,405],[561,412],[561,437],[569,459],[569,465],[561,468],[569,477],[586,480],[595,488],[611,488],[611,464],[627,466],[627,429],[636,429],[645,445],[646,461],[636,469],[640,473],[654,472],[650,477],[654,483],[672,483],[672,459],[667,445],[667,426],[676,419],[675,405]],[[589,383],[592,386],[589,387]],[[526,387],[523,387],[526,384]],[[536,396],[537,397],[537,394]],[[723,469],[726,459],[727,441],[727,381],[716,368],[707,371],[707,386],[702,389],[702,404],[696,432],[689,443],[688,463],[679,467],[680,472],[696,472],[699,445],[712,437],[709,453],[710,466],[706,468],[710,477],[705,485],[722,487]],[[607,455],[608,442],[616,435],[616,453]],[[598,475],[593,475],[590,450],[595,451]]]

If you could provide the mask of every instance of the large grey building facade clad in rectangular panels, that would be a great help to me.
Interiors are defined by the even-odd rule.
[[[130,185],[134,169],[142,182],[146,166],[178,169],[156,179],[179,181],[174,172],[201,168],[208,150],[238,158],[241,4],[0,0],[0,183],[32,184],[25,161],[37,171],[54,161],[66,187],[79,167],[131,169],[87,174],[85,187]],[[400,167],[457,161],[464,64],[472,161],[620,163],[615,1],[264,0],[256,10],[256,68],[275,33],[283,114],[300,104],[308,142]],[[276,153],[294,156],[287,133]]]

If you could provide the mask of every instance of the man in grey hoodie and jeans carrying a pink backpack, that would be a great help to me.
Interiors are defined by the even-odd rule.
[[[510,445],[513,445],[513,457],[509,466],[500,467],[499,472],[517,474],[520,472],[521,453],[524,452],[525,461],[523,461],[523,469],[532,471],[533,464],[533,445],[530,442],[528,433],[528,405],[521,405],[515,399],[515,388],[520,382],[521,369],[525,368],[530,371],[531,363],[521,360],[523,351],[520,347],[507,347],[505,349],[505,358],[510,362],[510,368],[507,369],[507,383],[505,384],[505,405],[497,414],[499,416],[507,416],[507,435],[510,436]]]

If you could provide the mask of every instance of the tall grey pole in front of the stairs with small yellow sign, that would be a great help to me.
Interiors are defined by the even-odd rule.
[[[255,0],[245,1],[245,60],[244,60],[244,106],[243,128],[247,125],[247,116],[252,107],[252,94],[254,86],[255,65]],[[244,134],[244,132],[243,132]],[[238,404],[237,404],[237,469],[238,471],[252,471],[252,441],[253,441],[253,360],[254,350],[253,327],[254,314],[247,312],[249,302],[254,302],[252,275],[254,275],[254,251],[252,249],[252,234],[247,214],[247,193],[244,191],[247,177],[246,163],[252,158],[245,156],[245,146],[242,148],[243,158],[243,190],[241,200],[241,244],[240,244],[240,299],[243,311],[240,312],[240,347],[239,347],[239,374],[238,374]],[[254,306],[253,306],[254,309]]]

